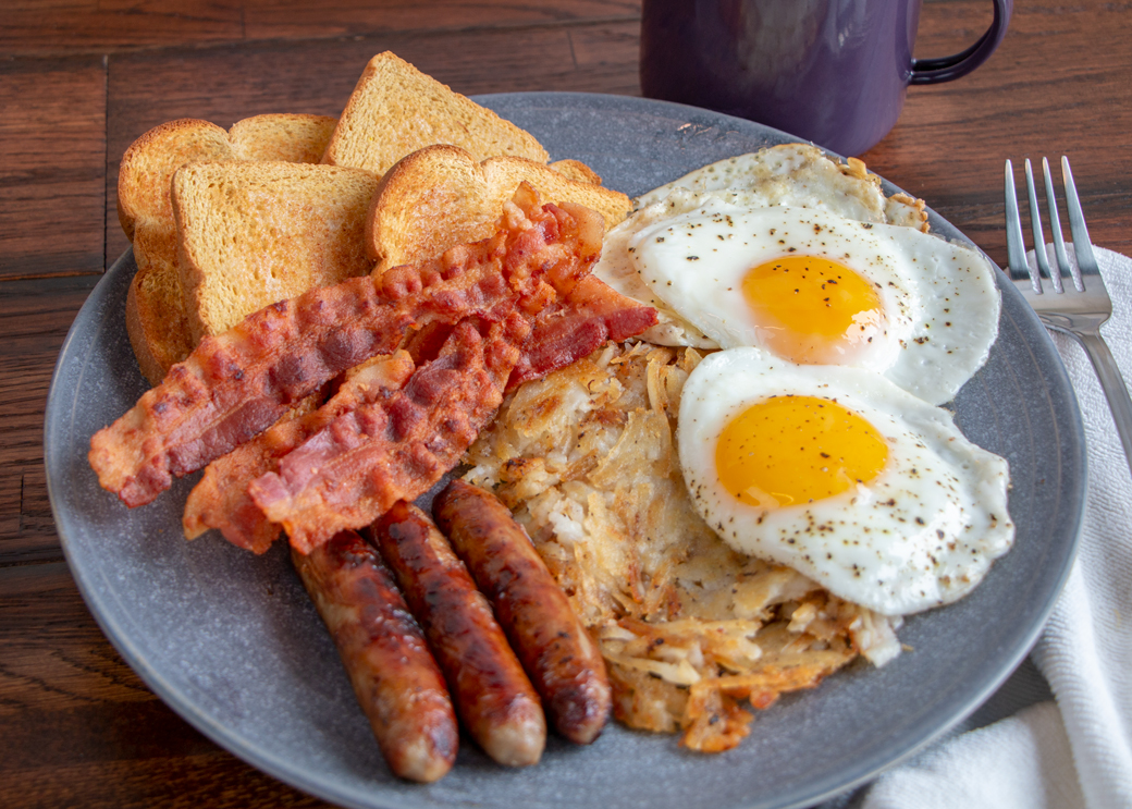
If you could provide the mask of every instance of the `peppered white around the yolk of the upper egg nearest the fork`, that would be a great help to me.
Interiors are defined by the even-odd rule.
[[[874,286],[887,323],[841,363],[882,373],[933,404],[954,398],[998,333],[990,264],[911,228],[712,198],[638,230],[626,249],[652,296],[722,348],[761,344],[763,324],[741,292],[753,266],[795,254],[848,267]]]

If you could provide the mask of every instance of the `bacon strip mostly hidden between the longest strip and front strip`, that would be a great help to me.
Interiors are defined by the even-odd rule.
[[[338,416],[401,389],[415,371],[405,351],[374,358],[351,369],[348,378],[319,409],[308,407],[281,418],[271,429],[217,458],[205,468],[185,503],[185,536],[194,539],[216,528],[233,545],[264,553],[283,527],[272,522],[248,495],[248,484],[278,469],[280,459]]]

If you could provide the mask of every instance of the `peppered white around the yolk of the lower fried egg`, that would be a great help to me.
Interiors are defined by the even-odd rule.
[[[880,475],[778,509],[727,492],[715,471],[720,432],[748,406],[786,394],[837,401],[869,421],[889,445]],[[735,550],[885,615],[961,598],[1013,543],[1006,461],[963,437],[946,410],[866,371],[792,365],[757,348],[713,354],[685,383],[677,442],[697,510]]]

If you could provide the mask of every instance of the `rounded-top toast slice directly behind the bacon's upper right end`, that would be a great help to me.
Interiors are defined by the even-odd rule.
[[[607,230],[633,207],[620,191],[569,179],[542,163],[506,156],[477,162],[458,146],[428,146],[389,169],[374,197],[366,222],[366,252],[376,262],[374,271],[486,239],[524,180],[547,202],[593,208],[604,218]]]

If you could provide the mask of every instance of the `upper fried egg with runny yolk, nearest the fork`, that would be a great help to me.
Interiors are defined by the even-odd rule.
[[[866,368],[933,404],[954,398],[998,333],[990,264],[912,228],[713,198],[627,250],[652,295],[718,346]]]

